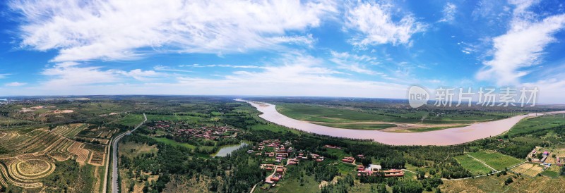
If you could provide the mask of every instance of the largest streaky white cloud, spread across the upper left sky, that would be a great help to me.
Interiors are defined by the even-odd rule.
[[[54,62],[310,46],[311,35],[287,32],[317,27],[323,15],[337,12],[331,0],[16,0],[9,6],[22,15],[21,46],[59,50]]]

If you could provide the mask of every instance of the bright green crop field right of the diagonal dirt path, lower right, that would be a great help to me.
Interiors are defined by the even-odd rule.
[[[515,166],[522,161],[513,158],[511,156],[506,156],[504,154],[496,153],[496,152],[487,152],[487,151],[477,151],[469,153],[471,156],[487,163],[487,165],[491,166],[496,170],[504,170],[504,168],[510,168],[511,166]]]

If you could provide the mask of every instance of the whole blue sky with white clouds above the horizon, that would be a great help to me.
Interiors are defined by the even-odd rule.
[[[539,87],[563,104],[560,1],[3,1],[0,95],[405,98]]]

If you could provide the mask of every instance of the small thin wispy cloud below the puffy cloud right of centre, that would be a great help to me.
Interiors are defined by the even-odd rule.
[[[374,57],[367,55],[358,56],[356,54],[337,51],[331,51],[331,56],[332,58],[330,61],[338,64],[338,68],[367,75],[383,75],[383,73],[379,73],[368,68],[368,66],[378,64]]]

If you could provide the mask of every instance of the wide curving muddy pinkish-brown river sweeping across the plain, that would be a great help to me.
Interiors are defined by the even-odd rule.
[[[242,101],[242,100],[238,100]],[[382,132],[378,130],[348,130],[336,127],[328,127],[308,123],[304,120],[296,120],[279,113],[275,109],[275,105],[267,103],[249,102],[263,114],[259,117],[283,125],[295,128],[304,132],[312,132],[320,135],[328,135],[333,137],[345,137],[352,139],[373,139],[375,142],[391,145],[452,145],[472,142],[477,139],[492,137],[504,133],[518,121],[534,114],[514,116],[511,118],[493,120],[484,123],[475,123],[466,127],[457,127],[445,130],[436,130],[429,132]]]

